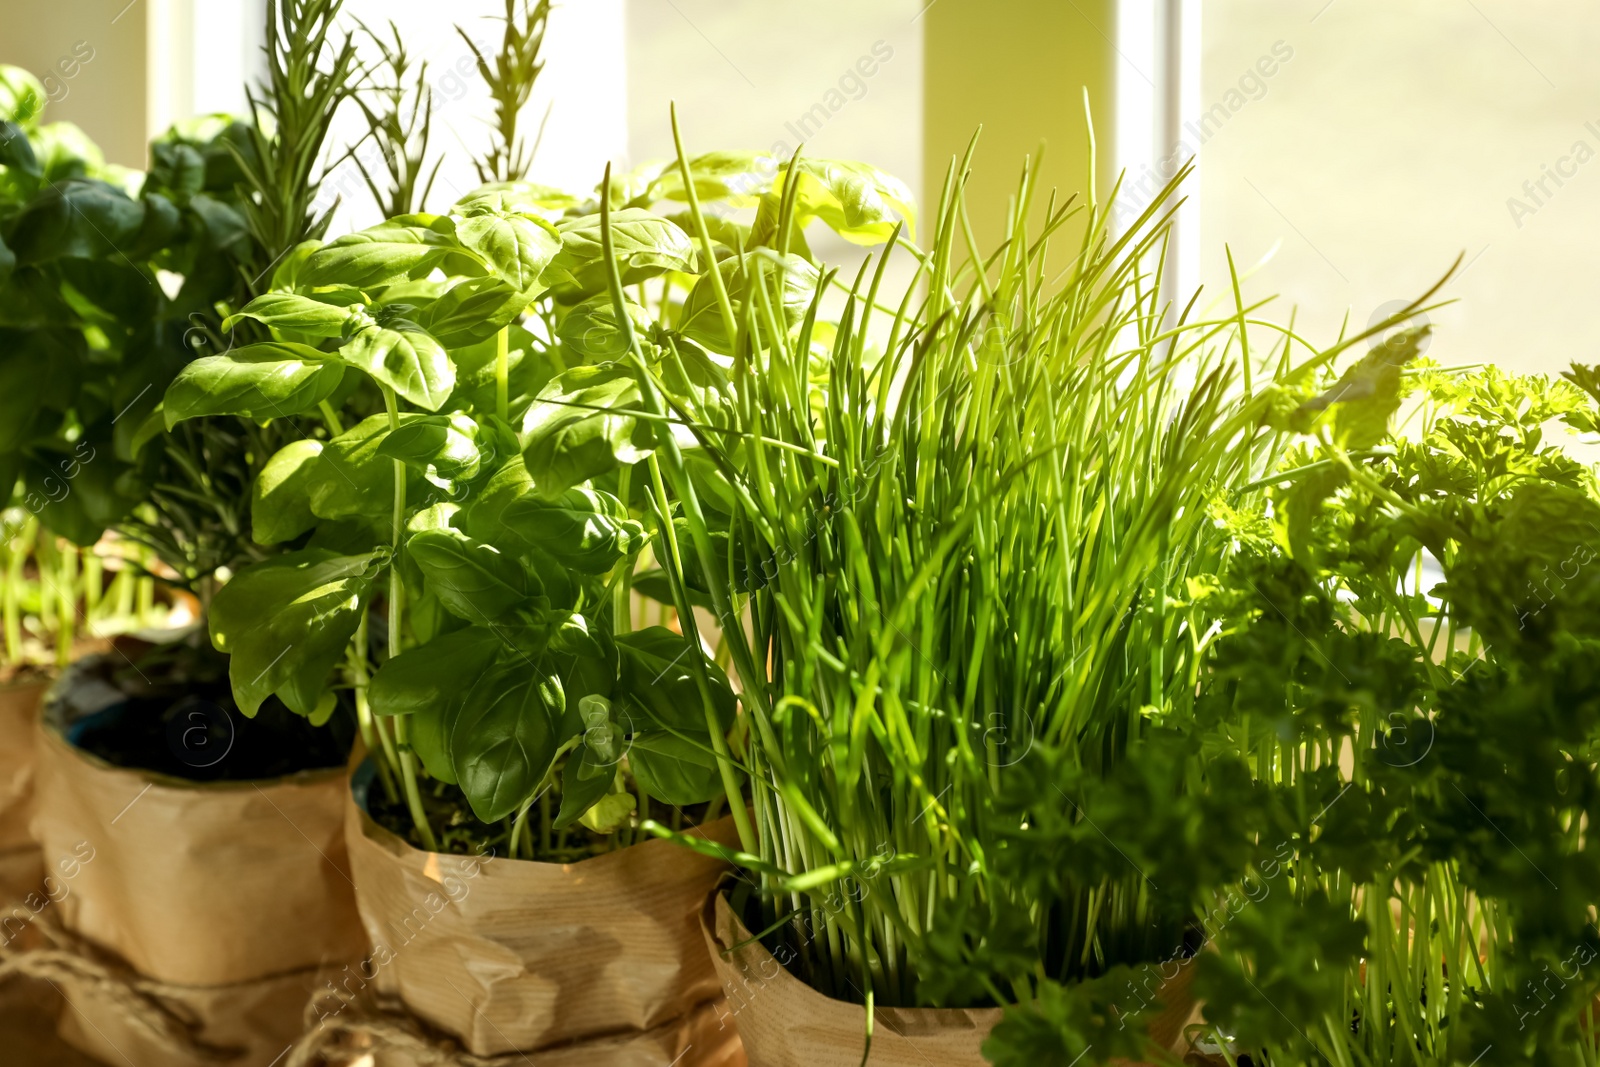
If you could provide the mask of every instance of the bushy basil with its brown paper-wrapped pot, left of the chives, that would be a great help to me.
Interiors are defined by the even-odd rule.
[[[283,341],[195,365],[166,411],[315,411],[346,374],[384,395],[382,414],[272,458],[258,501],[274,520],[256,536],[304,547],[243,568],[211,609],[245,710],[270,694],[307,712],[336,686],[354,694],[371,761],[349,846],[374,953],[331,992],[398,993],[477,1054],[587,1041],[670,1062],[693,1045],[714,1062],[694,1030],[714,1019],[715,982],[693,917],[718,864],[624,845],[651,805],[726,837],[725,779],[706,752],[731,726],[733,696],[682,633],[632,629],[646,534],[626,501],[653,491],[643,477],[629,488],[651,437],[611,368],[586,357],[600,334],[581,304],[546,298],[544,278],[579,290],[570,278],[603,261],[598,214],[546,221],[568,202],[498,182],[450,214],[307,248],[285,291],[242,310]],[[619,232],[635,282],[698,272],[670,222],[635,210]],[[619,411],[598,432],[541,400],[579,379]],[[514,421],[534,429],[520,438]],[[438,885],[454,886],[448,907]],[[570,933],[536,936],[530,901]],[[586,928],[619,957],[579,952]],[[635,953],[656,963],[626,966]],[[509,958],[514,973],[488,982],[474,963]],[[318,1038],[358,1022],[333,1005],[320,1014]]]

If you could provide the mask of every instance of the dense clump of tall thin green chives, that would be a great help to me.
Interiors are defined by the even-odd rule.
[[[1083,1038],[1091,1001],[1062,990],[1094,979],[1104,1001],[1118,968],[1186,944],[1200,894],[1096,814],[1115,798],[1194,837],[1232,800],[1152,741],[1195,701],[1206,622],[1189,581],[1227,550],[1214,501],[1275,458],[1282,389],[1357,339],[1318,352],[1240,302],[1168,320],[1176,182],[1114,235],[1096,202],[1051,197],[1030,226],[1029,168],[984,254],[968,162],[928,251],[896,235],[832,323],[835,278],[784,251],[818,170],[787,162],[758,210],[773,248],[726,258],[683,309],[731,363],[725,400],[670,405],[698,448],[659,456],[682,501],[670,547],[741,681],[742,744],[718,757],[752,782],[733,859],[762,893],[736,904],[824,993],[1024,1005],[997,1062],[1138,1054],[1114,1013],[1109,1037]],[[725,165],[701,165],[680,150],[675,189],[709,246],[699,190],[718,195]],[[1069,222],[1082,237],[1051,259]],[[918,275],[885,307],[899,245]],[[611,294],[622,320],[616,278]],[[648,413],[666,390],[632,362]]]

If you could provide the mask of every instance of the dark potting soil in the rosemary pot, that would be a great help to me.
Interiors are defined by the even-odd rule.
[[[355,737],[354,710],[341,699],[322,726],[269,697],[254,718],[234,702],[227,657],[200,646],[154,646],[83,664],[80,685],[109,683],[125,694],[83,715],[67,739],[115,766],[197,782],[283,777],[342,766]]]

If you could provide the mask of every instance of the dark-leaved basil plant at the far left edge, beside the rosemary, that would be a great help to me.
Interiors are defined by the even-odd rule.
[[[248,251],[248,144],[238,123],[195,120],[141,174],[42,123],[43,101],[0,67],[0,496],[86,545],[147,499],[162,445],[146,416],[187,360],[189,315]]]

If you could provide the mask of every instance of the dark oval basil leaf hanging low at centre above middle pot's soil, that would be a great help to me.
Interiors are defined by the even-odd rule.
[[[557,677],[502,657],[467,693],[450,734],[472,814],[496,822],[533,800],[562,744],[565,694]]]

